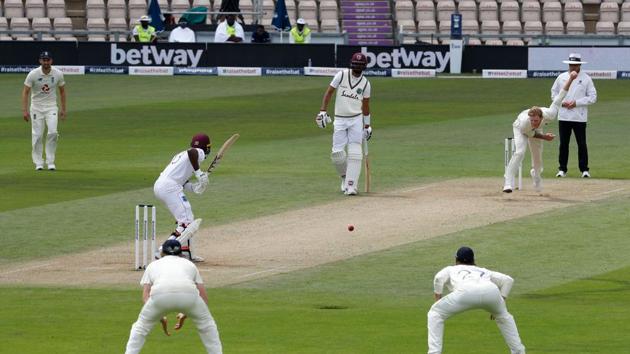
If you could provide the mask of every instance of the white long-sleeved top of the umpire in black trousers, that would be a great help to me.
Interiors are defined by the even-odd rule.
[[[564,84],[569,80],[569,73],[560,74],[551,87],[551,98],[555,99]],[[593,80],[583,71],[573,81],[565,101],[575,101],[575,107],[568,109],[560,107],[558,120],[571,122],[586,122],[588,120],[588,106],[597,102],[597,90]]]

